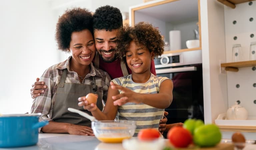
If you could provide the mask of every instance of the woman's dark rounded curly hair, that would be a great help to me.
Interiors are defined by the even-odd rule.
[[[90,30],[93,35],[92,13],[88,9],[79,7],[67,9],[59,17],[56,25],[55,38],[59,50],[69,51],[72,32],[79,32],[84,29]]]

